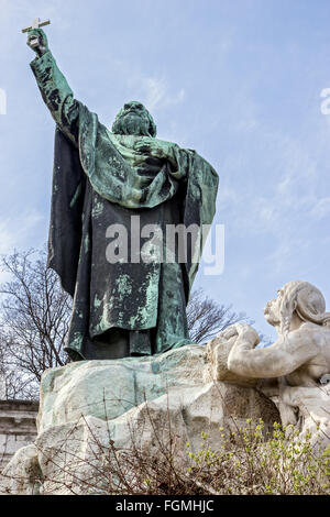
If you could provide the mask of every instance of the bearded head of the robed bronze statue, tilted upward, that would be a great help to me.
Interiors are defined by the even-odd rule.
[[[127,102],[116,117],[112,125],[116,134],[156,136],[156,125],[150,112],[141,102]]]

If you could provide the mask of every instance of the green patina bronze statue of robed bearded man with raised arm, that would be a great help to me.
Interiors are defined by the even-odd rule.
[[[211,224],[217,173],[195,151],[157,140],[140,102],[125,103],[110,132],[74,98],[42,29],[29,31],[28,45],[56,122],[48,265],[74,299],[67,353],[119,359],[191,343],[186,306],[202,233],[185,261],[165,261],[164,242],[145,246],[140,229]],[[128,250],[116,255],[123,235]]]

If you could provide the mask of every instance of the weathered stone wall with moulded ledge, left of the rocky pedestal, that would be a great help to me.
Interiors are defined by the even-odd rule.
[[[0,471],[36,437],[37,402],[0,400]]]

